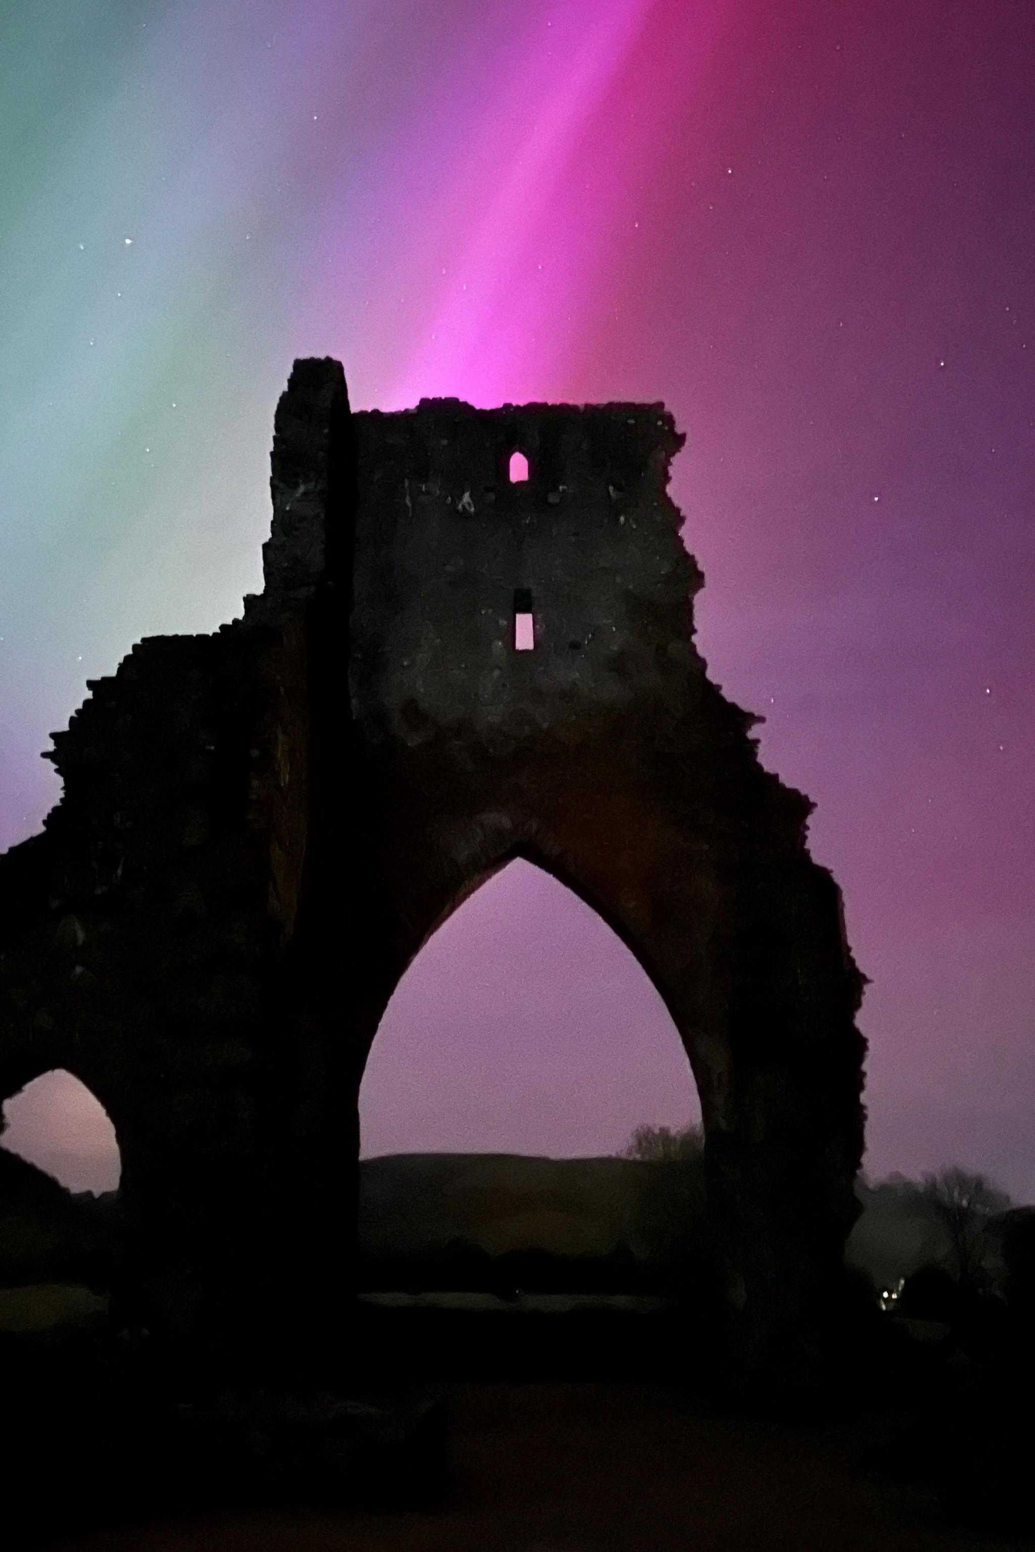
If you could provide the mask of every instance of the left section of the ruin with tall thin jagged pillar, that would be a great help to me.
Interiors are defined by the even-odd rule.
[[[54,734],[61,802],[0,858],[0,1099],[57,1066],[96,1094],[132,1225],[119,1302],[185,1338],[261,1325],[282,1266],[270,1221],[296,1184],[301,1103],[286,965],[313,827],[329,449],[346,416],[340,368],[315,391],[296,374],[265,593],[214,635],[138,643],[92,681]]]

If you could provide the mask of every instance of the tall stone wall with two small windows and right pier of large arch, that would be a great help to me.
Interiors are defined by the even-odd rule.
[[[497,866],[551,871],[672,1012],[731,1349],[793,1369],[857,1211],[861,978],[808,799],[760,767],[756,719],[695,649],[701,576],[667,495],[681,438],[661,407],[622,404],[422,400],[354,427],[352,1038],[368,1048],[405,965]],[[514,450],[528,483],[507,478]]]

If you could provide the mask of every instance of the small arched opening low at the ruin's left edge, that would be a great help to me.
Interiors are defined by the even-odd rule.
[[[102,1197],[123,1173],[115,1127],[85,1083],[54,1068],[3,1107],[0,1147],[51,1175],[65,1190]]]

